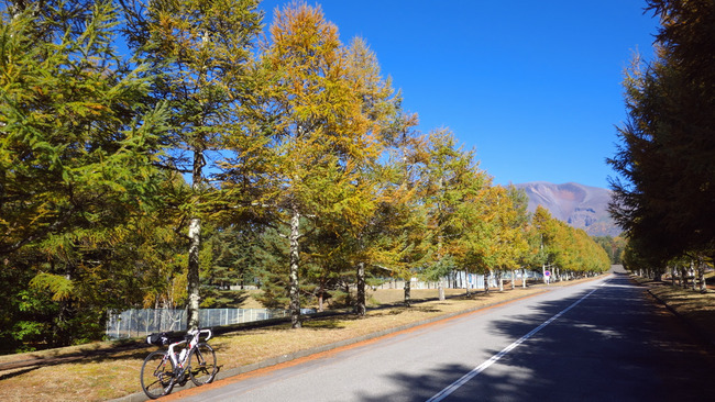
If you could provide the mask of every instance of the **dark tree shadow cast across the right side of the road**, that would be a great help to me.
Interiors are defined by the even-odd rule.
[[[486,331],[520,339],[590,291],[497,320]],[[501,351],[487,350],[491,356]],[[711,395],[713,356],[644,289],[620,275],[444,401],[703,401]],[[443,361],[429,372],[405,370],[389,376],[397,390],[356,397],[364,402],[427,401],[474,368]]]

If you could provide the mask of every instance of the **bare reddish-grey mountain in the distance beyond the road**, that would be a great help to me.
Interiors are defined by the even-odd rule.
[[[623,231],[608,214],[610,190],[575,182],[535,181],[515,185],[529,197],[529,211],[542,205],[551,215],[592,236],[617,236]]]

